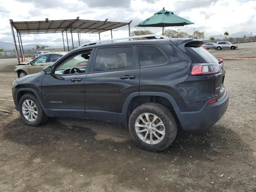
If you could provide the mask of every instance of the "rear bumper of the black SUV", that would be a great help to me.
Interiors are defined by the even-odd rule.
[[[198,111],[178,112],[177,116],[184,130],[198,130],[209,128],[214,125],[226,112],[228,108],[228,92],[218,99],[214,104],[208,101]]]

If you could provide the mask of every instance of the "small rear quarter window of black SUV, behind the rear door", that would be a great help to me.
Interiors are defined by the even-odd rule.
[[[153,46],[138,46],[138,55],[140,67],[157,66],[167,62],[166,56]]]

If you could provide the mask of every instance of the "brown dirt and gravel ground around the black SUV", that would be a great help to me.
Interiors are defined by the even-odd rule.
[[[256,43],[209,51],[255,57]],[[0,60],[1,192],[256,192],[256,60],[225,60],[224,117],[178,132],[163,152],[141,149],[120,124],[50,118],[27,126],[12,100],[15,63]]]

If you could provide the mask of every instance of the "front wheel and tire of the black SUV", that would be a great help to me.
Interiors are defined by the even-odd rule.
[[[34,103],[35,107],[33,107],[34,105],[32,103]],[[40,103],[33,94],[25,94],[20,98],[19,112],[24,122],[30,126],[38,126],[39,124],[43,124],[44,122],[46,122],[48,119]]]

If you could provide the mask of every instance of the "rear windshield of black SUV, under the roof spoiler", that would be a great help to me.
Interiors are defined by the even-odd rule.
[[[185,46],[186,54],[190,56],[192,63],[217,63],[218,60],[202,47]]]

